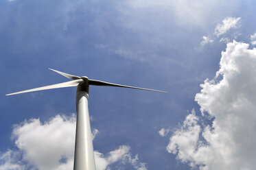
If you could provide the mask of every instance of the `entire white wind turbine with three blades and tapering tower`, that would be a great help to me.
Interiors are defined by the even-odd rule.
[[[10,93],[8,95],[17,95],[20,93],[28,93],[38,90],[48,90],[52,88],[64,88],[71,86],[78,86],[76,91],[76,131],[75,131],[75,158],[74,158],[74,170],[95,170],[95,160],[93,154],[93,141],[91,138],[91,125],[89,120],[88,99],[89,99],[89,86],[116,86],[124,88],[136,88],[141,90],[150,90],[156,92],[167,93],[161,90],[153,90],[149,88],[139,88],[133,86],[124,86],[121,84],[113,84],[108,82],[102,82],[100,80],[91,80],[86,76],[76,76],[61,71],[55,71],[60,75],[63,75],[72,81],[53,84],[49,86],[43,86],[39,88],[32,88],[30,90],[23,90],[16,93]]]

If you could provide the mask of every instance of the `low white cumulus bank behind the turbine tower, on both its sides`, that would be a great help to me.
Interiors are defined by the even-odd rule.
[[[12,139],[17,149],[0,153],[0,170],[25,169],[73,169],[75,146],[75,114],[71,117],[57,115],[42,123],[40,119],[30,119],[14,125]],[[98,134],[93,130],[93,138]],[[131,164],[135,169],[145,167],[138,157],[132,158],[130,147],[120,146],[105,157],[95,151],[97,169],[109,169],[109,165],[121,161],[122,165]]]

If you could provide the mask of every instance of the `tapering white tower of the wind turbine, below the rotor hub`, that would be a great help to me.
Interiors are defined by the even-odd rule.
[[[95,170],[93,141],[88,110],[89,95],[85,91],[76,93],[76,110],[78,113],[75,132],[74,170]]]

